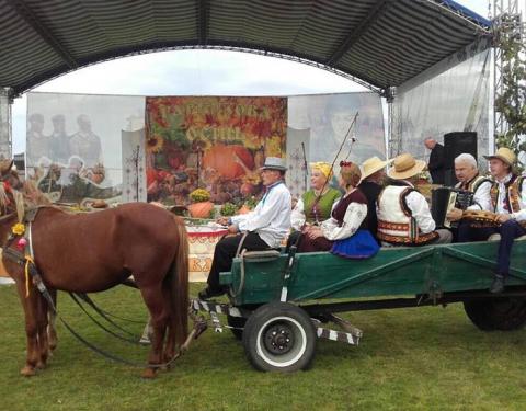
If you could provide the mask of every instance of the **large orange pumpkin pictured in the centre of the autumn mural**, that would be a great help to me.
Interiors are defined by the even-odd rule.
[[[236,157],[239,158],[239,161]],[[244,175],[247,170],[253,170],[254,159],[243,146],[216,145],[203,157],[203,168],[217,170],[220,175],[231,180]]]

